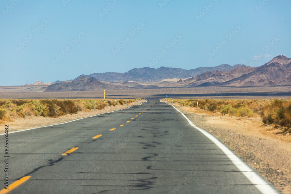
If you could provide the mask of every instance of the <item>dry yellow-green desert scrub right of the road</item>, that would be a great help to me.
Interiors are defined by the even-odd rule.
[[[284,99],[164,99],[183,106],[198,107],[211,112],[242,117],[261,116],[265,124],[280,127],[283,133],[291,133],[291,100]]]

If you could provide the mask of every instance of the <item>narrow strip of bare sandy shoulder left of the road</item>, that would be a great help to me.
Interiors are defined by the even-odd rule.
[[[8,124],[9,125],[9,131],[19,131],[22,129],[30,129],[30,128],[35,128],[35,127],[42,127],[42,126],[47,126],[47,125],[52,125],[52,124],[57,124],[57,123],[62,123],[62,122],[67,122],[70,120],[78,119],[78,118],[83,118],[83,117],[88,117],[88,116],[93,116],[97,115],[100,113],[107,113],[123,108],[127,108],[132,105],[140,104],[139,103],[131,103],[127,104],[127,106],[123,105],[118,105],[118,106],[106,106],[102,110],[96,110],[94,113],[94,110],[92,112],[78,112],[77,114],[72,114],[72,115],[64,115],[61,117],[57,118],[50,118],[50,117],[42,117],[42,116],[27,116],[26,118],[12,118],[14,121],[13,122],[8,122],[8,121],[1,121],[1,124]],[[0,128],[0,134],[4,133],[4,128]]]

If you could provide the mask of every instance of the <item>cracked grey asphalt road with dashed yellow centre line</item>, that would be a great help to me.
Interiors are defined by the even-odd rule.
[[[9,156],[15,185],[8,193],[261,193],[213,141],[159,100],[11,133]]]

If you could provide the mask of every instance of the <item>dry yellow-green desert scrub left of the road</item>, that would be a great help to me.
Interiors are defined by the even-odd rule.
[[[140,100],[140,99],[137,99]],[[58,117],[79,111],[102,110],[105,106],[125,104],[125,99],[0,99],[0,120],[10,121],[15,117],[43,116]],[[127,103],[136,99],[127,99]]]

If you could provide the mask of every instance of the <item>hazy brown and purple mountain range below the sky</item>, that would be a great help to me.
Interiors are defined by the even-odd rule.
[[[42,91],[276,85],[291,85],[291,59],[286,56],[276,56],[260,67],[228,64],[191,70],[143,67],[125,73],[80,75],[74,80],[56,81],[43,87]]]

